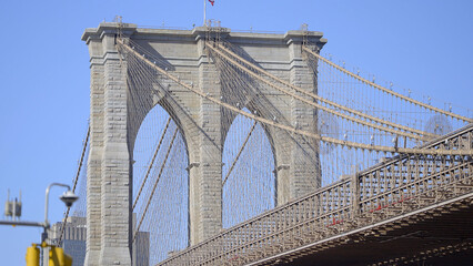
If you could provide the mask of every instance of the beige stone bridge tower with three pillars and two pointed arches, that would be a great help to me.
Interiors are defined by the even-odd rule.
[[[167,103],[163,108],[177,122],[185,140],[191,245],[222,228],[221,156],[229,130],[222,121],[222,109],[207,99],[180,90],[178,84],[170,84],[169,95],[154,99],[141,110],[134,109],[128,99],[127,69],[122,66],[115,47],[119,28],[121,33],[149,52],[163,58],[173,71],[181,72],[181,80],[199,84],[200,90],[213,96],[223,94],[221,83],[217,82],[219,72],[205,52],[208,28],[138,29],[134,24],[104,22],[85,30],[82,40],[89,47],[91,70],[85,265],[131,265],[131,162],[140,123],[130,123],[130,117],[142,121],[154,104]],[[322,48],[326,41],[321,32],[266,34],[219,30],[221,38],[240,48],[265,70],[316,92],[316,79],[302,59],[301,45],[309,40]],[[254,104],[251,99],[244,105],[262,115],[265,110],[275,110],[281,119],[296,124],[299,129],[316,130],[316,111],[288,95],[274,93],[279,94],[278,98],[272,98],[266,105]],[[320,186],[316,143],[303,137],[291,143],[281,131],[265,130],[274,153],[278,204]]]

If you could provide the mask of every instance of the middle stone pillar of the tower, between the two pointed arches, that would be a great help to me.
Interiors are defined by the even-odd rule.
[[[204,50],[204,33],[198,32],[199,85],[204,93],[219,99],[219,74]],[[197,134],[197,143],[190,144],[197,145],[191,147],[194,151],[191,156],[199,156],[199,164],[192,165],[189,176],[191,245],[218,234],[222,228],[222,112],[219,105],[203,98],[198,100],[198,104],[197,121],[201,132]]]

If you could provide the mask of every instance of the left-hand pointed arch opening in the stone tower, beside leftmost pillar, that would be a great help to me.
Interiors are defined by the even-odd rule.
[[[155,265],[189,245],[188,165],[182,131],[155,105],[140,125],[132,154],[133,229],[140,227],[133,243],[137,265]]]

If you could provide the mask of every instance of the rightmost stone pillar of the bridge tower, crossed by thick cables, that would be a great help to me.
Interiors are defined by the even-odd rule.
[[[308,66],[301,54],[304,34],[303,31],[289,31],[284,38],[289,52],[289,80],[299,88],[316,93],[315,73]],[[313,101],[309,96],[305,98]],[[280,110],[284,112],[285,120],[299,130],[316,133],[318,111],[292,98],[289,101],[289,109]],[[320,187],[322,175],[316,141],[300,135],[276,134],[275,136],[278,205],[282,205]],[[288,137],[293,141],[288,141]]]

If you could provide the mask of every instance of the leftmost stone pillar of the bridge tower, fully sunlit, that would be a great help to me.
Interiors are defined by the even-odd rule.
[[[100,29],[100,34],[85,40],[91,55],[92,129],[85,265],[131,265],[125,71],[115,49],[115,24]]]

